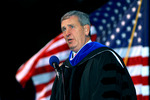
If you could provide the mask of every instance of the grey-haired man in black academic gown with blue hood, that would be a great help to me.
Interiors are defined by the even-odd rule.
[[[90,40],[87,14],[70,11],[61,18],[61,29],[71,49],[60,66],[51,100],[136,100],[131,77],[121,57]]]

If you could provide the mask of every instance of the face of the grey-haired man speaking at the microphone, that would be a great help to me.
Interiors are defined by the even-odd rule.
[[[86,25],[81,26],[77,16],[71,16],[70,18],[63,20],[61,29],[69,48],[74,52],[80,50],[80,48],[88,41]]]

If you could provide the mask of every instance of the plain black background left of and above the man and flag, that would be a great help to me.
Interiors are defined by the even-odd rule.
[[[108,0],[6,0],[1,3],[0,100],[34,100],[30,80],[23,89],[18,68],[56,37],[61,16],[70,10],[90,14]]]

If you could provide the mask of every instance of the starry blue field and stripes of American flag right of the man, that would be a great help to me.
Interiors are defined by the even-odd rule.
[[[148,5],[145,5],[145,1],[110,0],[90,14],[91,23],[97,30],[97,41],[114,49],[125,59],[138,7],[141,4],[127,62],[138,100],[149,100],[149,33],[146,26],[149,9],[146,9]]]

